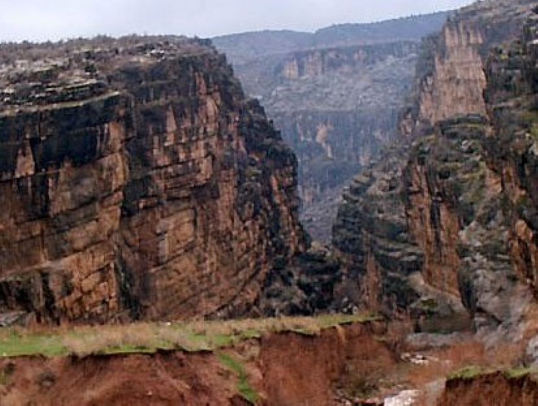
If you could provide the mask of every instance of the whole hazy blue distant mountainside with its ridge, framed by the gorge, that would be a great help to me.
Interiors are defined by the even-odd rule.
[[[343,187],[394,138],[419,40],[445,18],[215,39],[298,155],[302,220],[315,239],[330,239]]]

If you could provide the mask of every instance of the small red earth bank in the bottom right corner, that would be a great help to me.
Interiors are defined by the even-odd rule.
[[[538,406],[538,383],[526,375],[508,379],[498,372],[447,382],[437,406]]]

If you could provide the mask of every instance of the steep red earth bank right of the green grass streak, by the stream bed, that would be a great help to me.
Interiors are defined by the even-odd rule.
[[[311,339],[279,334],[261,341],[261,371],[268,405],[334,404],[334,383],[354,364],[390,369],[390,351],[373,339],[371,327],[341,327]]]

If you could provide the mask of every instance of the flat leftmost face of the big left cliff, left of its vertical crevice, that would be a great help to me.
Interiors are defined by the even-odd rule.
[[[64,108],[2,113],[0,291],[3,310],[38,319],[121,309],[114,238],[132,137],[117,93]]]

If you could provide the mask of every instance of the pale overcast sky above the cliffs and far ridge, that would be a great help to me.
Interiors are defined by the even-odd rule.
[[[314,31],[458,8],[471,0],[0,0],[0,41],[96,34],[199,37],[263,30]]]

